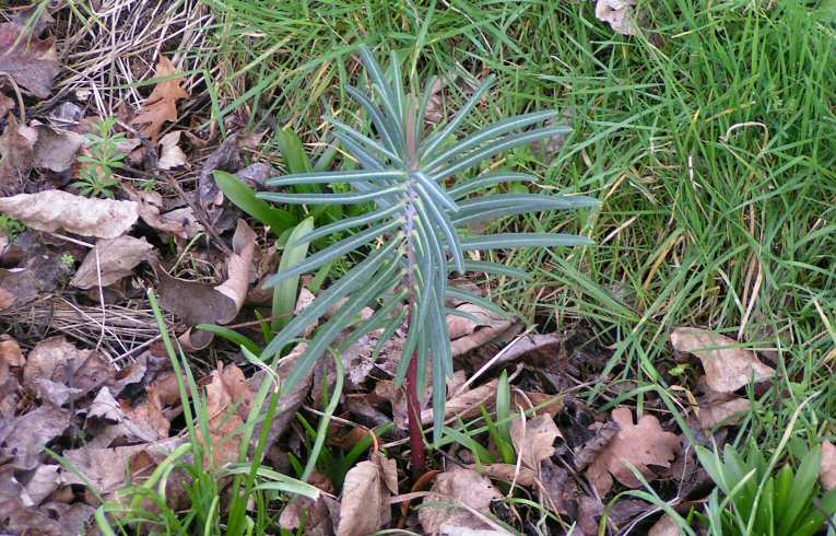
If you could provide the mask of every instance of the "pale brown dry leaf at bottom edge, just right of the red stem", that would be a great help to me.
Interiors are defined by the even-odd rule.
[[[491,502],[499,499],[502,493],[486,477],[474,470],[452,467],[435,478],[433,488],[424,497],[424,506],[419,510],[419,521],[425,534],[434,535],[492,528],[462,505],[490,514]]]

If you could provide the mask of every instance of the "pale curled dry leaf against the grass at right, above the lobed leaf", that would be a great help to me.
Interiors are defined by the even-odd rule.
[[[693,353],[703,363],[711,391],[731,393],[749,384],[768,380],[775,370],[758,361],[755,352],[723,335],[693,327],[679,327],[671,334],[676,351]]]

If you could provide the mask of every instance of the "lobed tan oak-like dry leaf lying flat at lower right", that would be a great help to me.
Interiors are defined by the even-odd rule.
[[[629,465],[645,477],[654,478],[650,466],[670,467],[681,444],[680,438],[662,430],[651,415],[644,415],[634,424],[629,408],[620,407],[613,409],[612,418],[621,430],[587,469],[587,477],[601,497],[612,489],[613,477],[627,488],[641,485]]]

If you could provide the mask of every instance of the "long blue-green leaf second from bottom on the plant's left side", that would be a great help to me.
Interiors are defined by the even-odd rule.
[[[329,308],[345,295],[353,292],[357,287],[365,283],[380,268],[388,255],[396,248],[397,243],[390,242],[381,249],[373,252],[365,260],[349,270],[338,281],[327,288],[302,313],[294,316],[293,319],[284,326],[273,340],[264,348],[259,359],[268,362],[282,348],[289,345],[297,335],[304,331],[308,326],[317,322]]]

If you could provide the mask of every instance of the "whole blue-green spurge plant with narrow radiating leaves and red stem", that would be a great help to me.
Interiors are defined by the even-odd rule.
[[[466,172],[513,148],[567,133],[567,127],[537,127],[555,117],[555,112],[511,117],[452,140],[454,135],[460,133],[469,114],[486,96],[492,85],[488,79],[446,125],[425,132],[423,118],[432,96],[433,81],[427,83],[423,97],[407,94],[395,56],[389,70],[384,71],[367,48],[362,48],[361,54],[374,97],[357,88],[346,91],[365,109],[374,126],[374,135],[366,136],[349,125],[331,120],[337,139],[361,168],[286,175],[270,180],[273,186],[341,183],[350,185],[351,190],[339,194],[262,193],[259,196],[281,203],[374,205],[368,213],[330,223],[303,237],[303,242],[313,242],[353,230],[348,237],[310,255],[301,265],[280,271],[268,286],[309,272],[353,252],[364,252],[365,259],[290,322],[268,345],[261,359],[274,359],[285,345],[321,318],[334,303],[348,298],[317,329],[295,371],[282,386],[293,388],[337,337],[356,323],[360,311],[366,305],[376,305],[376,313],[357,325],[350,339],[357,340],[377,329],[391,337],[400,326],[407,326],[397,382],[401,384],[407,380],[413,463],[423,465],[423,454],[419,455],[422,459],[415,459],[416,448],[423,453],[420,417],[416,415],[420,412],[417,393],[424,392],[427,371],[432,370],[434,438],[438,441],[444,426],[445,378],[452,374],[446,302],[456,299],[496,308],[480,296],[448,286],[450,273],[479,271],[525,277],[525,272],[501,264],[473,261],[467,253],[591,243],[581,236],[558,233],[473,235],[468,228],[507,215],[594,207],[598,201],[584,196],[480,196],[480,190],[501,183],[534,180],[532,176],[510,172],[466,178]],[[382,339],[381,345],[386,337]]]

